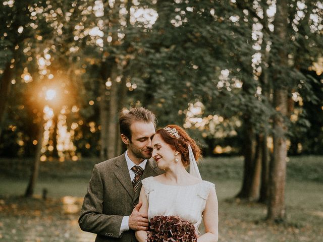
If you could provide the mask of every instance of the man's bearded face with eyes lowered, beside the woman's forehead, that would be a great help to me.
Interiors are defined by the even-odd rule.
[[[149,159],[152,152],[150,138],[155,134],[153,124],[134,122],[130,126],[130,131],[131,141],[128,144],[128,155],[132,156],[130,158]]]

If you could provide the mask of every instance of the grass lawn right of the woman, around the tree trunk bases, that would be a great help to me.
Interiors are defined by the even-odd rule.
[[[218,187],[222,187],[217,191],[220,241],[322,241],[323,193],[320,184],[289,181],[287,219],[282,224],[271,225],[263,220],[266,206],[239,202],[228,196],[238,192],[239,181],[222,181]]]

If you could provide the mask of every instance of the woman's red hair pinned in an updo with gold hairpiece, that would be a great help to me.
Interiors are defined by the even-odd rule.
[[[159,134],[161,138],[170,146],[172,146],[176,151],[180,152],[182,155],[182,163],[184,166],[188,166],[190,164],[190,158],[189,158],[189,151],[188,151],[188,145],[191,146],[194,158],[196,161],[201,156],[201,150],[195,143],[195,141],[186,133],[184,129],[177,125],[168,125],[166,126],[168,128],[176,129],[180,138],[176,138],[175,136],[168,133],[167,130],[159,129],[156,131],[156,134]]]

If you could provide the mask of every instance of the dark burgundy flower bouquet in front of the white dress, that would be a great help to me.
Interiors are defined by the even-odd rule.
[[[195,227],[179,216],[155,216],[150,219],[147,242],[196,242]]]

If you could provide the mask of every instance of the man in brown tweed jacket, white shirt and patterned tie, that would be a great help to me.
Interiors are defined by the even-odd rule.
[[[131,108],[119,115],[120,133],[127,151],[94,166],[79,225],[96,233],[95,242],[137,241],[135,230],[147,230],[147,214],[139,213],[141,179],[163,173],[151,158],[154,114]]]

